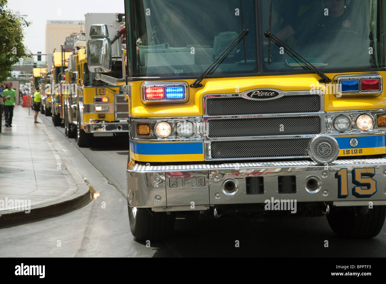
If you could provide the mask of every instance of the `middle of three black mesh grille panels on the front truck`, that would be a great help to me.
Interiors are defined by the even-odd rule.
[[[320,116],[209,119],[208,137],[319,134]]]

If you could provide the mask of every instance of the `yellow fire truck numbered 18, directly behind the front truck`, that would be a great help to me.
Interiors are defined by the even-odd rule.
[[[122,16],[123,14],[89,13],[86,14],[85,24],[91,26],[90,22],[95,18],[110,19],[119,24]],[[112,38],[113,36],[114,34],[111,35]],[[120,45],[120,42],[117,40],[115,45]],[[120,94],[119,87],[95,80],[95,74],[87,67],[86,42],[78,41],[74,45],[77,50],[69,57],[69,68],[65,70],[66,85],[76,84],[76,88],[71,86],[71,94],[64,102],[66,135],[69,138],[76,136],[80,147],[91,146],[92,138],[97,136],[128,136],[127,98],[125,99],[123,93]],[[113,56],[111,74],[116,78],[122,77],[121,56]]]

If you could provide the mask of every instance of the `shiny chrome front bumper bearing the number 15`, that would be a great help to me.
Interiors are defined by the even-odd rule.
[[[348,195],[345,197],[338,196],[340,180],[337,172],[342,168],[347,169]],[[372,196],[358,198],[353,195],[353,187],[358,186],[353,184],[354,168],[374,168],[372,179],[376,180],[376,192]],[[295,176],[296,192],[279,192],[278,177],[286,175]],[[369,201],[373,205],[386,205],[386,155],[374,159],[335,160],[328,166],[309,161],[176,166],[132,163],[126,176],[130,206],[151,207],[154,211],[203,210],[219,204],[264,203],[271,198],[333,202],[334,206],[367,206]],[[305,189],[305,180],[309,176],[321,181],[317,192],[310,193]],[[247,177],[262,177],[264,193],[247,194]],[[233,179],[238,186],[233,195],[223,189],[226,179]],[[362,189],[367,189],[366,185],[362,184]]]

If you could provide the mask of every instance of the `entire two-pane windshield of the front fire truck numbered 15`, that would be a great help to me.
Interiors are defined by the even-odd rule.
[[[274,43],[268,56],[270,15],[271,32],[324,72],[385,66],[383,0],[272,0],[272,9],[270,2],[127,1],[133,76],[200,75],[242,31],[242,12],[245,54],[242,40],[212,75],[305,72]]]

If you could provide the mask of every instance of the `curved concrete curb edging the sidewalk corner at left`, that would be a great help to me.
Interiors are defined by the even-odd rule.
[[[0,228],[5,226],[14,226],[20,223],[28,223],[38,219],[44,219],[58,214],[63,214],[73,209],[83,207],[91,202],[90,189],[85,183],[85,180],[83,180],[69,157],[63,151],[63,149],[61,149],[59,143],[54,138],[54,135],[49,133],[48,127],[46,127],[45,124],[43,124],[42,127],[56,152],[55,153],[52,151],[52,154],[60,156],[60,160],[64,165],[63,168],[71,176],[71,181],[75,184],[77,190],[71,196],[59,199],[58,201],[52,201],[35,207],[32,206],[30,208],[30,213],[25,213],[25,210],[2,211],[2,213],[0,213]]]

